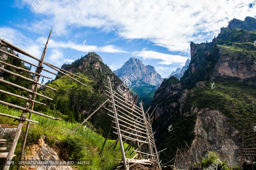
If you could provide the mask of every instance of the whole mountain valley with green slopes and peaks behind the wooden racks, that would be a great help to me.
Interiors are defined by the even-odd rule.
[[[243,131],[252,128],[252,125],[255,126],[253,124],[256,116],[256,47],[253,45],[255,40],[255,18],[246,17],[244,21],[233,19],[227,27],[220,28],[220,33],[214,36],[211,42],[200,44],[191,42],[191,59],[187,59],[183,67],[170,71],[168,78],[162,77],[152,65],[144,65],[140,59],[134,57],[129,58],[116,70],[111,70],[96,52],[88,52],[71,64],[64,63],[61,69],[67,71],[69,75],[75,75],[74,79],[86,86],[71,81],[60,71],[55,78],[45,84],[42,81],[41,86],[50,88],[37,90],[41,96],[36,96],[35,100],[38,103],[34,104],[33,111],[62,121],[33,114],[32,120],[38,121],[38,124],[30,127],[24,158],[93,160],[93,165],[88,168],[86,166],[65,168],[114,170],[117,166],[121,166],[122,163],[118,161],[122,161],[123,155],[127,155],[125,157],[127,161],[133,161],[134,158],[139,160],[139,157],[143,160],[142,157],[146,154],[151,157],[155,156],[152,154],[156,154],[155,157],[158,159],[159,156],[160,163],[174,165],[176,160],[173,158],[177,155],[177,148],[196,143],[198,149],[196,152],[202,160],[207,159],[209,153],[214,153],[229,170],[238,169]],[[6,46],[0,46],[0,49],[1,61],[31,71],[31,66],[14,57],[19,57],[14,50]],[[8,52],[8,55],[5,52]],[[1,68],[30,79],[36,76],[3,64]],[[23,88],[30,88],[33,84],[7,72],[1,71],[0,75],[5,81]],[[13,88],[3,81],[0,82],[0,90],[20,96],[31,94]],[[53,100],[43,98],[42,95],[50,96]],[[119,98],[114,99],[113,96]],[[104,101],[107,99],[109,102],[105,104]],[[23,99],[4,93],[0,93],[0,100],[20,107],[24,106]],[[40,102],[46,105],[41,105]],[[119,105],[115,105],[115,102]],[[102,107],[97,109],[99,106]],[[129,114],[123,113],[125,111]],[[22,113],[5,105],[0,105],[0,112],[16,117]],[[94,114],[82,127],[71,133],[92,113]],[[122,120],[120,118],[120,122],[124,122],[123,128],[119,128],[117,121],[114,121],[119,120],[117,115],[123,118]],[[130,121],[130,124],[127,121]],[[12,118],[0,116],[0,124],[12,123]],[[113,124],[117,124],[116,128],[112,128],[115,127]],[[16,157],[13,158],[15,161],[18,161],[20,156],[24,131],[25,128],[22,128],[17,141],[14,152]],[[123,150],[126,151],[123,153],[120,151],[122,143],[114,143],[116,139],[120,140],[121,131],[123,134],[129,134],[128,137],[122,134],[125,141]],[[3,145],[7,150],[10,149],[14,134],[15,130],[11,128],[2,128],[0,131],[0,138],[8,141]],[[135,137],[131,138],[131,135]],[[106,146],[103,147],[105,144]],[[136,152],[136,149],[140,151]],[[157,154],[156,151],[160,150],[162,152]],[[132,161],[129,162],[130,165]],[[160,166],[158,161],[156,164]],[[201,168],[207,169],[208,164],[204,165],[204,162],[201,162],[203,166]],[[3,168],[4,163],[5,160],[1,159],[0,169]],[[16,168],[10,167],[10,169]],[[26,168],[30,167],[24,167]]]

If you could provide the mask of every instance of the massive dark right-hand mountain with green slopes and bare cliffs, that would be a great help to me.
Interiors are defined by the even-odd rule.
[[[183,141],[196,142],[202,156],[214,151],[230,166],[239,161],[243,122],[251,127],[256,112],[256,31],[239,28],[251,29],[250,21],[229,23],[212,42],[191,42],[191,62],[180,81],[170,76],[156,91],[149,112],[158,105],[152,127],[157,147],[167,147],[164,162]]]

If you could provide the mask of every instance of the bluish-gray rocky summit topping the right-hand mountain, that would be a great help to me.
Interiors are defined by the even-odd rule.
[[[242,28],[249,31],[256,30],[256,19],[247,16],[244,21],[234,18],[228,24],[228,28]]]

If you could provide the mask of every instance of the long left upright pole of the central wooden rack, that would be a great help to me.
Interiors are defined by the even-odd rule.
[[[115,112],[115,122],[116,122],[116,128],[117,128],[117,132],[118,132],[118,139],[119,139],[119,144],[121,147],[121,154],[122,154],[122,158],[123,158],[123,167],[125,168],[125,170],[127,169],[127,163],[126,163],[126,158],[125,158],[125,151],[123,148],[123,142],[122,142],[122,136],[121,136],[121,131],[120,131],[120,127],[119,127],[119,122],[118,122],[118,118],[117,118],[117,112],[115,109],[115,101],[114,101],[114,96],[113,96],[113,92],[112,92],[112,87],[111,87],[111,82],[110,82],[110,78],[108,76],[108,84],[109,84],[109,88],[110,88],[110,93],[112,95],[112,102],[113,102],[113,110]]]

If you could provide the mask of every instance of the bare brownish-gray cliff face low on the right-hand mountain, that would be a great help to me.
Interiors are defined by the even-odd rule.
[[[215,151],[229,163],[236,165],[240,159],[241,134],[228,121],[227,116],[218,110],[201,109],[197,112],[194,141],[199,153]],[[199,137],[198,137],[199,136]]]

